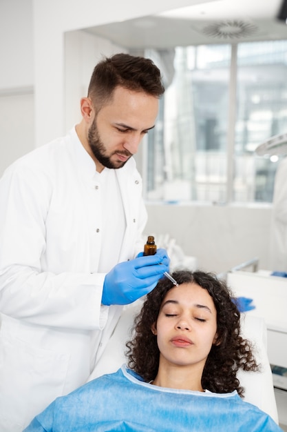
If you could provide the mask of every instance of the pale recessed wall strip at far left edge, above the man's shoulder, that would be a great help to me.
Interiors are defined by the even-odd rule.
[[[0,1],[0,175],[34,148],[32,0]]]

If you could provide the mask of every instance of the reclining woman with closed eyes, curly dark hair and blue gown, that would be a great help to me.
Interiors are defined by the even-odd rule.
[[[173,273],[146,297],[127,343],[128,367],[59,397],[25,432],[281,431],[244,402],[238,369],[259,368],[240,313],[210,273]]]

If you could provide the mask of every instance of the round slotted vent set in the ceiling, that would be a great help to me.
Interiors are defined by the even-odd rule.
[[[240,20],[220,21],[204,27],[202,32],[209,37],[240,39],[254,35],[257,32],[257,27]]]

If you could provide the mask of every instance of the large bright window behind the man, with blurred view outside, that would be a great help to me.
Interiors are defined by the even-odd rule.
[[[287,41],[178,47],[173,68],[149,135],[147,201],[272,202],[278,162],[255,148],[287,132]]]

